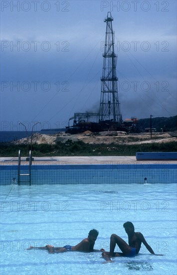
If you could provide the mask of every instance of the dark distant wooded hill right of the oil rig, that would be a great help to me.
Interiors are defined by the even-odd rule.
[[[150,118],[142,118],[138,121],[138,128],[144,131],[145,128],[150,128]],[[177,130],[177,115],[170,117],[152,117],[152,128],[157,131],[175,131]]]

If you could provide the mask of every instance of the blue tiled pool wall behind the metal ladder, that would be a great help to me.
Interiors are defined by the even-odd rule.
[[[20,173],[28,173],[22,165]],[[15,178],[15,180],[14,180]],[[146,179],[145,179],[146,178]],[[20,184],[29,184],[28,176]],[[0,184],[18,181],[17,165],[0,165]],[[177,164],[32,164],[31,184],[177,183]]]

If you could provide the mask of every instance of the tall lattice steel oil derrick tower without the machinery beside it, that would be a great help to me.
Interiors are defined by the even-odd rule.
[[[118,99],[118,88],[116,76],[117,54],[114,52],[114,31],[112,27],[113,17],[108,12],[106,22],[106,37],[103,53],[103,74],[101,77],[101,98],[99,123],[112,125],[111,128],[118,128],[122,123],[120,113],[120,102]]]

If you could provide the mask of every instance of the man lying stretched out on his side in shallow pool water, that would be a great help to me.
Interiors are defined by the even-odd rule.
[[[100,250],[93,249],[98,234],[99,232],[96,229],[90,230],[88,237],[84,238],[81,242],[79,242],[75,246],[71,246],[71,245],[65,245],[63,247],[54,247],[53,245],[46,245],[44,247],[30,246],[28,249],[32,249],[32,248],[48,249],[49,253],[59,253],[59,252],[65,252],[65,251],[82,251],[82,252],[104,251],[103,248]]]

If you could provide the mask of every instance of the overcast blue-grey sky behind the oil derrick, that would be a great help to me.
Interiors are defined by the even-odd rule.
[[[176,0],[0,4],[0,130],[62,128],[99,111],[108,11],[123,119],[177,114]]]

